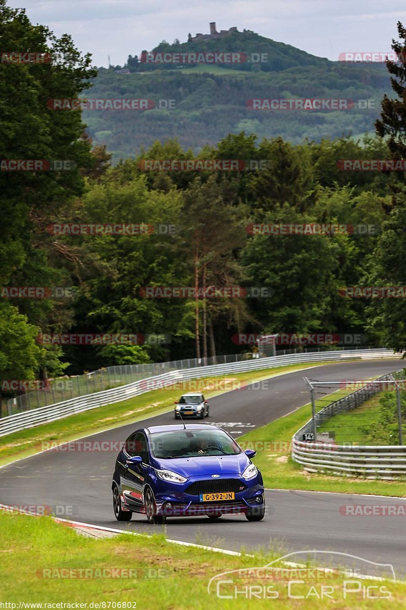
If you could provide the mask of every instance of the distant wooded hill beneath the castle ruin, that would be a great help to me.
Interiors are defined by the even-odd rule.
[[[345,64],[312,56],[254,32],[169,45],[153,52],[243,52],[267,54],[267,62],[234,65],[146,64],[129,57],[125,66],[100,68],[89,98],[148,98],[150,110],[86,110],[85,122],[96,143],[105,143],[113,160],[134,157],[155,140],[177,137],[184,148],[200,151],[228,133],[245,131],[281,136],[297,143],[309,138],[374,131],[380,100],[390,91],[385,65]],[[117,73],[119,68],[130,73]],[[332,98],[355,102],[372,99],[374,108],[350,110],[253,110],[253,98]],[[173,100],[175,109],[158,109]],[[165,106],[165,102],[162,103]]]

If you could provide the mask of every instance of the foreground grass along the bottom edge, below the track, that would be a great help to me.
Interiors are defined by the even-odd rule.
[[[250,525],[246,523],[244,526]],[[209,597],[209,580],[228,570],[262,567],[284,554],[281,550],[274,550],[266,555],[258,551],[255,558],[247,555],[229,556],[169,544],[164,536],[159,534],[150,538],[128,534],[95,540],[79,536],[72,529],[58,525],[49,517],[16,514],[0,514],[0,553],[0,600],[15,603],[16,608],[19,602],[42,603],[43,608],[46,608],[45,603],[75,602],[87,603],[88,608],[92,602],[105,602],[104,608],[123,608],[124,602],[131,602],[131,605],[126,607],[136,610],[246,609],[250,601],[245,595],[239,594],[234,599],[220,599],[214,586]],[[63,569],[65,572],[60,571]],[[91,570],[85,573],[88,576],[103,577],[72,578],[80,574],[80,569]],[[112,569],[116,570],[115,578],[108,577]],[[63,575],[71,577],[61,578]],[[292,580],[297,580],[297,576]],[[239,591],[243,590],[243,587],[255,585],[257,591],[258,586],[260,590],[263,590],[264,585],[271,586],[273,596],[278,595],[277,605],[281,610],[365,610],[377,607],[385,610],[404,608],[406,605],[406,585],[391,581],[362,581],[364,587],[379,584],[390,592],[390,598],[380,600],[366,598],[362,589],[344,599],[345,580],[338,574],[328,578],[323,575],[317,580],[309,575],[304,576],[301,582],[294,584],[292,588],[292,595],[304,596],[300,600],[288,597],[287,580],[267,578],[264,582],[264,578],[253,578],[251,572],[251,578],[234,576],[233,581],[233,585],[229,585],[228,589],[225,588],[226,585],[220,588],[220,595],[233,594],[234,585]],[[322,586],[331,587],[331,598],[320,598]],[[352,589],[355,589],[354,584]],[[371,592],[379,595],[377,589]],[[253,601],[255,608],[269,608],[272,603],[270,598],[253,597]]]

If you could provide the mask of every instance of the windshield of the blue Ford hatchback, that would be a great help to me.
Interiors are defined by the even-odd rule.
[[[242,452],[234,439],[217,428],[154,432],[149,443],[152,455],[159,459],[237,455]]]

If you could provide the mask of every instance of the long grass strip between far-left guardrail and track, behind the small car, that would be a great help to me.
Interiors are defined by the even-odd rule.
[[[285,367],[267,368],[257,371],[249,371],[247,373],[236,373],[234,375],[222,375],[218,377],[192,380],[188,383],[191,387],[194,381],[198,383],[198,389],[205,392],[206,398],[211,398],[221,394],[222,392],[209,390],[205,388],[213,387],[214,379],[218,382],[229,380],[236,382],[259,381],[268,379],[281,373],[289,373],[292,371],[302,370],[321,364],[329,364],[327,362],[293,364]],[[332,363],[330,363],[332,364]],[[231,386],[228,386],[231,387]],[[235,387],[235,384],[234,384]],[[189,389],[189,391],[191,391]],[[121,403],[108,404],[104,407],[97,407],[91,411],[85,411],[77,415],[70,415],[56,422],[51,422],[29,428],[7,436],[0,437],[0,465],[7,464],[16,458],[26,458],[40,450],[42,442],[65,442],[81,437],[95,434],[108,428],[116,428],[127,423],[135,423],[152,415],[159,415],[168,411],[173,407],[173,402],[178,400],[180,395],[187,392],[187,388],[179,389],[179,387],[153,390],[141,396],[124,400]]]

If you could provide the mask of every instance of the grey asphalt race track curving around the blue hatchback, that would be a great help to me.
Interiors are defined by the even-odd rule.
[[[271,422],[309,402],[303,376],[321,381],[367,379],[402,367],[399,360],[354,361],[295,371],[270,380],[268,389],[235,390],[210,400],[210,417],[236,439],[240,434]],[[114,405],[111,407],[114,410]],[[134,425],[87,437],[86,440],[125,440],[136,428],[175,423],[173,413],[151,417]],[[290,439],[286,439],[289,441]],[[114,519],[111,476],[116,451],[47,451],[0,470],[0,503],[46,504],[72,507],[71,519],[141,533],[159,531],[144,515],[133,515],[129,523]],[[369,561],[393,564],[397,578],[406,575],[405,516],[348,517],[343,504],[405,504],[405,500],[360,497],[338,493],[268,490],[268,514],[259,523],[248,523],[243,515],[168,519],[167,537],[198,542],[230,550],[257,548],[281,542],[284,550],[318,549],[340,551]],[[69,510],[69,509],[68,509]],[[61,515],[64,516],[64,515]],[[69,519],[69,517],[66,517]],[[299,561],[298,558],[292,561]],[[345,558],[341,564],[349,565]],[[372,573],[365,567],[365,573]]]

